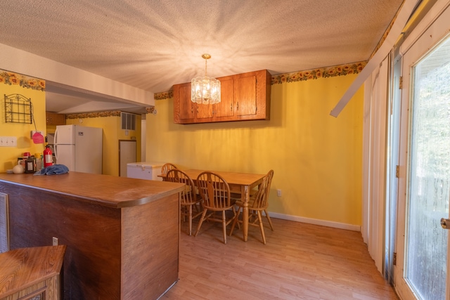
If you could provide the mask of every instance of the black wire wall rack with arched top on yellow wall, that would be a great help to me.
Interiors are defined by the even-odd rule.
[[[5,94],[5,122],[32,124],[33,107],[31,98],[18,93]]]

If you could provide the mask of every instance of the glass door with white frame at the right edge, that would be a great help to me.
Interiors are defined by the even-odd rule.
[[[450,38],[425,56],[411,50],[403,70],[396,289],[402,299],[448,300],[449,231],[440,219],[449,218]]]

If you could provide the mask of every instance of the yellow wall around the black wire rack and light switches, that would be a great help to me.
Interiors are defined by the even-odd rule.
[[[0,72],[4,71],[0,70]],[[23,78],[20,74],[16,75]],[[17,147],[0,147],[0,172],[13,169],[13,166],[17,164],[18,157],[21,157],[23,152],[30,152],[34,155],[34,153],[43,152],[45,149],[44,144],[34,144],[31,139],[31,131],[34,130],[34,124],[6,123],[5,94],[8,96],[13,93],[19,93],[26,98],[31,98],[37,130],[46,131],[45,91],[20,86],[19,82],[11,85],[5,84],[4,78],[1,77],[0,80],[0,136],[15,136],[17,138]],[[25,78],[33,80],[31,77]],[[41,82],[44,83],[45,81],[41,80]]]

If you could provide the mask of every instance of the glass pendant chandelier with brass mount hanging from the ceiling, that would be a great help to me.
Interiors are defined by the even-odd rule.
[[[205,58],[205,76],[195,77],[191,81],[191,101],[202,104],[215,104],[220,102],[220,81],[207,77],[207,60],[210,54],[203,54]]]

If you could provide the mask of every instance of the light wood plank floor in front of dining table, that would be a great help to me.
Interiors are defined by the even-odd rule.
[[[182,223],[179,281],[162,299],[398,299],[361,233],[272,221],[266,245],[257,227],[248,242],[236,228],[224,244],[221,224],[204,223],[194,237]]]

